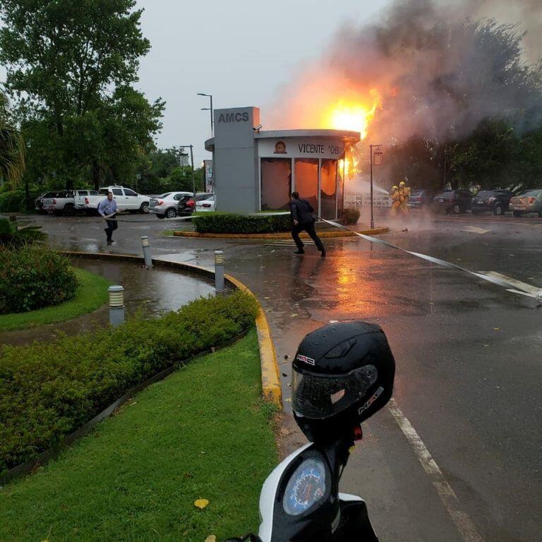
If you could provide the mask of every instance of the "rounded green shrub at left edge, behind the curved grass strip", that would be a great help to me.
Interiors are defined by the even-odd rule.
[[[0,249],[0,314],[58,305],[76,294],[69,260],[46,246]]]

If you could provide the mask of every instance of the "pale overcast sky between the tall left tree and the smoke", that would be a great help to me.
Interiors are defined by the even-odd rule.
[[[210,158],[208,98],[213,106],[266,111],[299,66],[322,54],[345,21],[365,20],[385,0],[138,0],[152,49],[141,61],[140,88],[167,101],[159,147],[195,145]]]

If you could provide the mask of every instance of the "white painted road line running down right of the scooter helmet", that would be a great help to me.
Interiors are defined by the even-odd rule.
[[[431,483],[435,486],[440,500],[442,500],[442,504],[445,506],[448,514],[450,514],[450,517],[464,542],[484,542],[483,537],[478,533],[469,514],[466,514],[466,512],[461,510],[457,495],[446,481],[446,478],[439,469],[438,464],[436,464],[435,459],[431,457],[426,445],[423,444],[423,440],[421,440],[418,433],[416,433],[416,429],[412,427],[412,424],[402,413],[401,409],[399,409],[399,406],[397,406],[397,403],[393,398],[390,399],[389,409],[392,416],[395,418],[395,421],[397,421],[397,425],[401,428],[406,437],[406,440],[410,442],[410,445],[418,456],[421,466],[423,466],[423,470],[429,475]]]

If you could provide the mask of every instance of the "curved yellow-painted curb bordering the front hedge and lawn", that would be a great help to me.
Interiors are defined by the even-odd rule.
[[[61,251],[61,253],[73,256],[76,258],[92,258],[94,260],[100,260],[102,258],[109,260],[131,260],[135,263],[145,263],[145,259],[142,256],[128,255],[128,254],[108,254],[108,253],[95,253],[95,252],[77,252],[77,251]],[[182,262],[168,262],[164,260],[152,260],[152,265],[157,267],[170,267],[173,269],[180,269],[185,271],[192,271],[206,277],[215,277],[215,271],[209,267],[201,267],[193,263]],[[265,399],[275,403],[282,408],[282,387],[280,385],[279,378],[279,363],[277,361],[277,354],[275,352],[275,346],[273,345],[271,338],[271,330],[263,307],[258,301],[258,297],[255,296],[253,291],[249,289],[240,280],[232,277],[231,275],[224,275],[224,279],[236,289],[246,291],[247,294],[253,296],[258,303],[258,316],[256,316],[255,325],[258,332],[258,344],[260,346],[260,367],[262,372],[262,392]]]

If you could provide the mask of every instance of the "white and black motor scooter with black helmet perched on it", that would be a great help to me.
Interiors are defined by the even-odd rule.
[[[380,327],[370,326],[372,326],[371,329],[378,328],[378,331],[383,335]],[[341,328],[341,324],[335,324],[335,330],[337,327]],[[341,330],[351,331],[348,327],[345,329],[344,326]],[[359,331],[359,327],[356,330]],[[325,327],[320,328],[320,335],[323,335],[325,339],[330,335],[330,339],[334,336],[333,333],[326,332]],[[307,336],[307,338],[311,337]],[[339,347],[330,344],[328,350],[333,351],[332,347],[335,347],[335,350],[339,348],[340,353],[341,348],[343,351],[351,349],[348,345],[356,340],[348,336],[345,339],[344,332],[342,335],[339,333],[339,338],[341,339]],[[359,337],[357,340],[360,342]],[[363,340],[365,341],[365,339]],[[390,357],[392,361],[392,383],[395,361],[387,346],[385,335],[383,340],[385,347],[387,347],[385,355]],[[347,347],[342,347],[344,344],[347,344]],[[303,350],[302,345],[303,342],[296,355],[296,360],[308,358],[311,365],[313,363],[318,365],[318,359],[315,360],[315,356],[311,358],[306,354],[300,354],[300,351]],[[374,345],[370,348],[375,350]],[[365,347],[363,353],[366,354],[367,349]],[[380,347],[377,353],[380,354],[381,350]],[[363,353],[361,355],[365,355]],[[390,382],[389,373],[390,371],[387,375],[388,383]],[[374,380],[373,383],[375,383]],[[378,382],[375,385],[378,385]],[[323,390],[324,388],[320,386],[317,389]],[[382,386],[369,388],[369,390],[370,393],[363,399],[361,406],[356,404],[356,416],[349,416],[346,418],[347,420],[356,419],[358,421],[360,418],[365,419],[371,416],[373,411],[367,416],[364,413],[371,410],[371,406],[379,399],[380,404],[377,409],[380,409],[391,395],[391,390],[388,390],[386,397],[383,397],[385,394],[383,394]],[[340,395],[341,392],[344,394],[342,390],[337,392],[334,389],[332,391],[334,395],[337,393]],[[363,499],[356,495],[339,493],[339,481],[347,465],[350,450],[354,447],[355,442],[362,438],[361,425],[359,423],[351,423],[350,425],[336,423],[335,425],[339,426],[341,430],[338,433],[335,432],[335,438],[329,440],[319,438],[318,435],[323,434],[321,431],[318,433],[307,430],[304,424],[307,420],[303,416],[295,415],[294,412],[294,418],[303,433],[315,442],[308,442],[291,453],[267,476],[260,493],[261,523],[258,535],[248,534],[243,538],[229,538],[225,542],[378,542]]]

